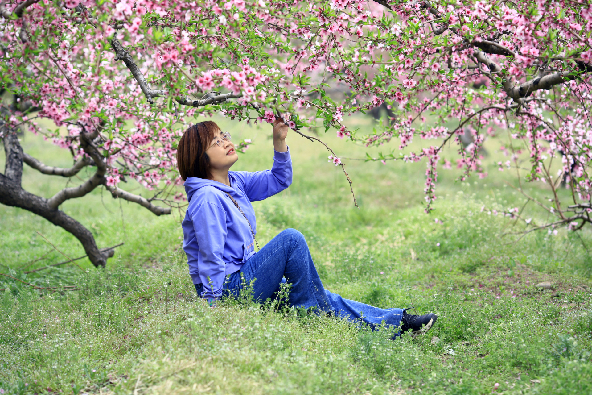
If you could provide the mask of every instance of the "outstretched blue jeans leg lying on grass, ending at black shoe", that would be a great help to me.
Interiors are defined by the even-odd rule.
[[[403,318],[403,309],[379,309],[369,304],[343,298],[337,294],[325,291],[327,298],[335,309],[337,317],[346,317],[349,320],[362,319],[369,323],[372,329],[384,322],[387,325],[399,326]]]

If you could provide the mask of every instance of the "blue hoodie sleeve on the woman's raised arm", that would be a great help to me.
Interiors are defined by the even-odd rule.
[[[271,170],[236,172],[236,175],[250,201],[273,196],[292,184],[292,159],[289,149],[286,152],[274,150],[274,166]]]

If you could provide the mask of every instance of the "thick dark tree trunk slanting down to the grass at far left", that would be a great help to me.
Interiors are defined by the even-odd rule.
[[[113,255],[112,250],[110,250],[110,253],[99,251],[92,233],[82,226],[81,223],[67,216],[63,211],[57,210],[57,208],[51,208],[46,198],[33,195],[22,189],[21,144],[18,142],[14,130],[7,130],[5,127],[1,127],[0,136],[2,132],[5,133],[3,140],[4,150],[6,152],[6,168],[5,174],[0,174],[0,203],[31,211],[31,213],[37,214],[54,225],[60,226],[67,232],[72,233],[81,242],[92,264],[96,267],[104,267],[107,263],[107,258]]]

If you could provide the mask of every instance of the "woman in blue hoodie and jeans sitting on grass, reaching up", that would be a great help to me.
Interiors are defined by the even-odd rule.
[[[288,127],[274,122],[274,166],[271,170],[229,171],[239,159],[230,133],[213,121],[189,127],[177,149],[179,173],[185,180],[189,206],[183,220],[183,249],[198,295],[214,306],[216,300],[238,296],[243,284],[256,278],[254,298],[263,302],[291,284],[288,304],[318,309],[359,320],[376,328],[382,321],[416,336],[427,332],[436,314],[407,314],[405,309],[378,309],[342,298],[323,288],[302,233],[286,229],[259,251],[252,201],[288,188],[292,161],[285,139]],[[243,281],[244,278],[244,281]]]

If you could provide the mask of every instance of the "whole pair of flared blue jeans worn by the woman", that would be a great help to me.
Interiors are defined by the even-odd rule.
[[[280,282],[287,281],[292,284],[288,297],[290,306],[316,307],[321,311],[332,312],[338,317],[362,320],[369,323],[373,329],[383,321],[389,326],[399,326],[403,317],[402,309],[379,309],[325,290],[321,279],[318,278],[304,235],[295,229],[280,232],[258,253],[244,262],[240,271],[231,274],[224,285],[227,295],[239,294],[243,287],[241,274],[246,284],[256,278],[253,283],[253,298],[259,302],[274,298],[274,293],[279,291]],[[202,285],[196,284],[195,290],[201,295]]]

